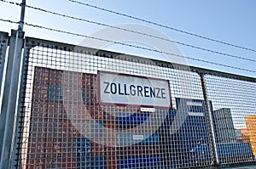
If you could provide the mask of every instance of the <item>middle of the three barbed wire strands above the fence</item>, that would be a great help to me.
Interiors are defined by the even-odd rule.
[[[6,1],[6,0],[0,0],[0,1],[2,1],[4,3],[11,3],[11,4],[15,4],[15,5],[20,6],[20,3],[14,3],[14,2]],[[49,10],[44,9],[44,8],[33,7],[33,6],[30,6],[30,5],[26,5],[26,7],[27,8],[32,8],[32,9],[35,9],[35,10],[39,10],[39,11],[42,11],[44,13],[55,14],[55,15],[58,15],[58,16],[61,16],[61,17],[72,19],[72,20],[79,20],[79,21],[84,21],[84,22],[90,23],[90,24],[107,26],[107,27],[110,27],[110,28],[113,28],[113,29],[118,29],[118,30],[121,30],[121,31],[129,31],[131,33],[136,33],[136,34],[143,35],[143,36],[146,36],[146,37],[153,37],[153,38],[160,39],[160,40],[163,40],[163,41],[166,41],[166,42],[177,43],[177,44],[183,45],[185,47],[199,49],[199,50],[206,51],[206,52],[209,52],[209,53],[212,53],[212,54],[219,54],[219,55],[224,55],[224,56],[235,58],[235,59],[243,59],[243,60],[247,60],[247,61],[251,61],[251,62],[256,62],[255,59],[247,59],[247,58],[244,58],[244,57],[241,57],[241,56],[238,56],[238,55],[226,54],[226,53],[219,52],[219,51],[212,50],[212,49],[208,49],[208,48],[201,48],[201,47],[194,46],[194,45],[191,45],[191,44],[188,44],[188,43],[185,43],[185,42],[172,41],[172,40],[166,39],[164,37],[157,37],[157,36],[150,35],[150,34],[147,34],[147,33],[143,33],[143,32],[140,32],[140,31],[125,29],[125,28],[122,28],[122,27],[114,26],[114,25],[107,25],[107,24],[103,24],[103,23],[100,23],[100,22],[92,21],[92,20],[85,20],[85,19],[74,17],[74,16],[67,15],[67,14],[60,14],[60,13],[57,13],[57,12],[49,11]]]

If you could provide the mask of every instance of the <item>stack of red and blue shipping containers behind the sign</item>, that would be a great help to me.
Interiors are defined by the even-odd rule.
[[[96,82],[92,74],[35,68],[27,168],[189,168],[196,159],[190,152],[209,145],[203,100],[175,99],[177,109],[155,112],[100,105]],[[66,96],[63,87],[69,89]],[[65,99],[76,105],[65,106]],[[152,121],[154,113],[166,116],[161,125]],[[179,115],[184,121],[173,133],[172,122],[181,120]],[[136,130],[138,126],[143,127]],[[204,164],[212,161],[211,153],[201,157]]]

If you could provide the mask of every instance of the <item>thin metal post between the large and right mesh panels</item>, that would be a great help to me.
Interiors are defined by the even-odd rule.
[[[204,100],[205,100],[208,128],[209,128],[209,132],[211,134],[211,144],[212,144],[214,165],[219,165],[216,139],[215,139],[213,124],[212,124],[212,111],[211,111],[209,100],[207,97],[207,84],[205,81],[205,75],[204,75],[204,73],[200,72],[199,76],[201,78],[201,88],[202,88],[202,92],[203,92],[203,96],[204,96]]]

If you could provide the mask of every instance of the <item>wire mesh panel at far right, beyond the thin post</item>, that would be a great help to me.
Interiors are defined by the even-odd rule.
[[[255,82],[212,75],[207,75],[206,81],[219,161],[254,161]]]

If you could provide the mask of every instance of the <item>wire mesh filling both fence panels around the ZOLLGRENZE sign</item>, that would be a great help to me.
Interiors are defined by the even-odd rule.
[[[17,160],[20,168],[212,165],[210,125],[201,78],[195,71],[31,38],[26,39],[25,54]],[[101,104],[99,71],[168,81],[172,108]],[[253,161],[253,144],[245,142],[235,129],[236,124],[245,127],[244,117],[255,113],[255,83],[206,78],[220,161]],[[230,87],[223,87],[221,82]],[[245,86],[249,92],[242,89]],[[219,127],[218,123],[227,126]]]

